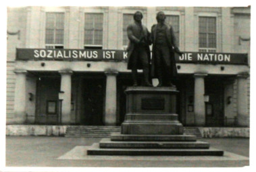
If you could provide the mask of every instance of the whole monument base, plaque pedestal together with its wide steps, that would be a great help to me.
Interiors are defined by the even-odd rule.
[[[128,87],[121,133],[103,138],[87,155],[222,156],[193,135],[183,134],[174,87]]]

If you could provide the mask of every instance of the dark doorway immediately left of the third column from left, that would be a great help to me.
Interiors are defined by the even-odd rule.
[[[80,124],[88,126],[103,125],[104,81],[103,77],[99,76],[82,79]]]

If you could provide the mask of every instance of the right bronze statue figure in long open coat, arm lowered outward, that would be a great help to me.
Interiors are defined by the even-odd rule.
[[[151,40],[153,42],[151,75],[159,81],[158,87],[170,86],[171,80],[176,77],[177,69],[174,52],[182,54],[176,44],[174,30],[172,26],[165,24],[165,14],[160,11],[157,13],[157,24],[151,28]],[[165,75],[165,77],[164,77]],[[166,81],[165,85],[163,81]]]

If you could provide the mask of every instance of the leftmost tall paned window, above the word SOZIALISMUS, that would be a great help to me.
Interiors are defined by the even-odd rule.
[[[45,46],[63,48],[64,13],[46,13]]]

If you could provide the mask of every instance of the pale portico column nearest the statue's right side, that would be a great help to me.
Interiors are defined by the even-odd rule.
[[[205,73],[195,73],[194,113],[195,125],[205,126]]]

